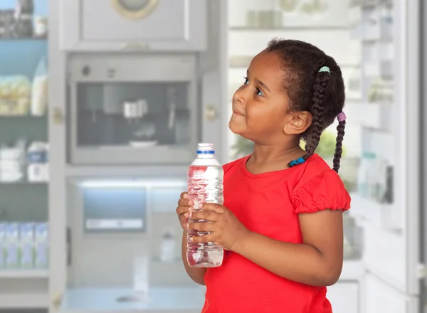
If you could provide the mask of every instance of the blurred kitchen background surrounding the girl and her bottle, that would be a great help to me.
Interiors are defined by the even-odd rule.
[[[231,97],[274,37],[322,48],[347,87],[352,209],[334,313],[427,312],[426,12],[423,0],[0,0],[0,312],[201,311],[176,201],[197,142],[223,164],[251,153],[228,131]],[[328,162],[335,127],[317,149]]]

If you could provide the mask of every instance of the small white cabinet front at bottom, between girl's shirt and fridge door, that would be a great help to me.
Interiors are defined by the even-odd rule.
[[[359,283],[338,282],[327,287],[327,299],[332,304],[334,313],[362,313],[359,309]]]

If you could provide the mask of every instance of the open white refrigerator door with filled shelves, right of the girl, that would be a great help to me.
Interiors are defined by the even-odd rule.
[[[427,273],[423,264],[427,148],[421,144],[427,135],[427,110],[422,105],[427,97],[421,85],[427,73],[421,53],[426,48],[427,5],[423,0],[357,2],[364,96],[378,112],[376,127],[362,129],[362,150],[374,154],[371,174],[386,186],[375,200],[354,196],[351,210],[364,229],[361,312],[427,312],[422,284]],[[383,88],[382,96],[372,90],[375,84]],[[389,95],[384,95],[384,88]],[[370,191],[376,188],[369,186]]]

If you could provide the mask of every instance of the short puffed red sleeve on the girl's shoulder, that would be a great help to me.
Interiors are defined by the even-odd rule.
[[[332,169],[312,177],[290,195],[295,213],[350,208],[350,196],[338,174]]]

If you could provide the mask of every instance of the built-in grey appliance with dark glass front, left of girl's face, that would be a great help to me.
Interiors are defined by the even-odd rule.
[[[72,55],[70,162],[188,164],[199,79],[195,55]]]

